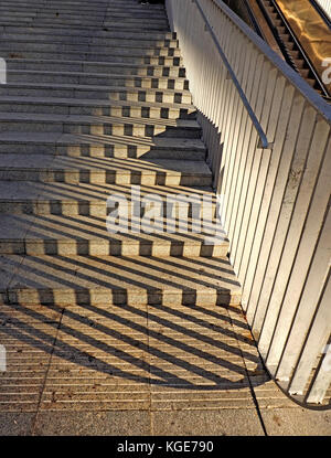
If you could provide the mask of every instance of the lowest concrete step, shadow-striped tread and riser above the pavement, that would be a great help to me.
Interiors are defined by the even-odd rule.
[[[227,258],[206,263],[185,257],[12,255],[0,259],[10,278],[0,290],[4,303],[205,307],[241,299]]]

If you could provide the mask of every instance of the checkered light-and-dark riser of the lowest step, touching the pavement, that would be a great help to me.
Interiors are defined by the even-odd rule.
[[[2,291],[4,303],[24,303],[24,305],[44,305],[71,307],[77,305],[105,306],[107,305],[163,305],[163,306],[222,306],[241,303],[239,295],[229,295],[224,291],[201,292],[190,291],[178,294],[172,291],[139,291],[132,290],[111,290],[110,288],[98,289],[9,289],[6,294]]]

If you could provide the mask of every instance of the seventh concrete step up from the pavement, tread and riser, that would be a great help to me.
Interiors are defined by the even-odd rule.
[[[195,119],[195,108],[192,105],[89,98],[0,96],[0,108],[1,111],[12,113]]]

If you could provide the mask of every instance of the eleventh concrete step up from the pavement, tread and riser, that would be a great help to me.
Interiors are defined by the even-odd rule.
[[[1,45],[0,55],[2,58],[33,58],[33,60],[61,60],[61,61],[88,61],[88,62],[111,62],[111,63],[129,63],[132,65],[166,65],[166,66],[182,66],[181,57],[158,56],[129,54],[105,54],[105,53],[78,53],[78,52],[50,52],[50,51],[13,51],[11,46]]]

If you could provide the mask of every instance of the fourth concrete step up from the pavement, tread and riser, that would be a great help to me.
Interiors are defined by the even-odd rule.
[[[0,180],[211,187],[212,173],[205,161],[3,153]]]

